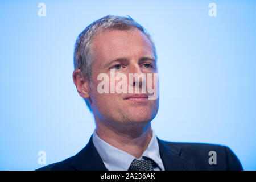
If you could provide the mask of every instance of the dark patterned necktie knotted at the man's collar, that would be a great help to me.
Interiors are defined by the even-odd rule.
[[[150,159],[134,159],[128,171],[154,171],[153,161]]]

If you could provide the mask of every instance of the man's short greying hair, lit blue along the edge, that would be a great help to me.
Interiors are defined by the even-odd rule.
[[[97,32],[100,30],[106,30],[108,28],[115,30],[130,30],[131,28],[137,28],[150,40],[155,60],[157,60],[155,44],[151,39],[150,34],[148,34],[139,23],[135,22],[135,20],[133,20],[130,16],[104,16],[103,18],[94,21],[92,24],[89,24],[89,26],[79,34],[79,37],[76,40],[74,67],[75,69],[81,69],[82,76],[86,78],[86,80],[91,80],[92,73],[92,60],[89,57],[90,44],[92,43]],[[86,99],[85,102],[89,107],[89,110],[92,111],[92,108]]]

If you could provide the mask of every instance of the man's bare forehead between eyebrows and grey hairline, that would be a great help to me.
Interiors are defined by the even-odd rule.
[[[150,40],[137,28],[100,31],[94,37],[90,49],[95,64],[103,64],[117,57],[154,57]]]

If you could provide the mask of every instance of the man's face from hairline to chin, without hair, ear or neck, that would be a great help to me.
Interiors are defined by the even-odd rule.
[[[134,81],[129,81],[129,73],[151,73],[152,88],[154,88],[154,73],[157,73],[154,53],[150,40],[141,31],[131,30],[105,30],[99,32],[90,47],[92,59],[92,88],[90,98],[96,122],[114,122],[126,124],[145,124],[154,119],[159,105],[159,98],[148,100],[148,93],[142,95],[142,87],[139,87],[139,96],[142,98],[130,98],[135,93],[130,93],[129,88],[135,88]],[[124,73],[127,77],[127,93],[99,93],[97,80],[100,73],[110,71]],[[115,85],[121,80],[115,80]],[[142,81],[142,80],[140,80]],[[146,79],[148,82],[148,79]],[[140,83],[141,84],[141,83]],[[137,85],[138,86],[138,85]],[[158,86],[158,85],[156,85]]]

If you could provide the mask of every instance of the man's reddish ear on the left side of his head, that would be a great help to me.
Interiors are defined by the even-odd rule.
[[[82,76],[80,69],[73,71],[73,82],[76,85],[77,92],[83,98],[89,98],[89,80]]]

